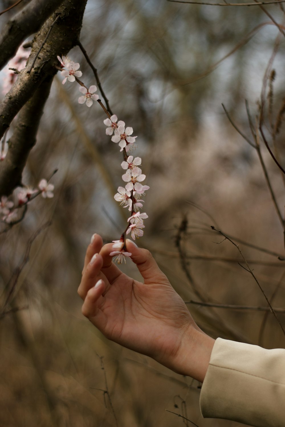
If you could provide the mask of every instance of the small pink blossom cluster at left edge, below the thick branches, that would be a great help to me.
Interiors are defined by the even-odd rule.
[[[21,188],[16,193],[16,202],[8,200],[8,197],[2,196],[0,200],[0,221],[6,224],[12,224],[19,218],[19,209],[27,205],[32,199],[41,194],[44,199],[53,197],[53,184],[48,184],[46,179],[41,179],[38,189],[32,187]]]

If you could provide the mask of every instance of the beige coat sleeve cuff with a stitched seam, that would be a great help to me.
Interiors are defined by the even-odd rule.
[[[285,427],[285,349],[218,338],[200,395],[204,418]]]

